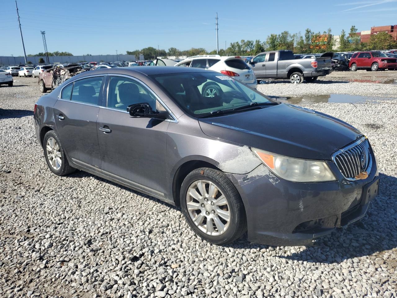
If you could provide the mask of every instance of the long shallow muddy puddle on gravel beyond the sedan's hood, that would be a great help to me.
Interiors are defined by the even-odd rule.
[[[304,101],[310,103],[364,103],[365,101],[393,99],[389,97],[375,97],[362,95],[348,95],[348,94],[329,94],[317,96],[302,96],[302,97],[277,97],[270,96],[281,103],[297,104]]]

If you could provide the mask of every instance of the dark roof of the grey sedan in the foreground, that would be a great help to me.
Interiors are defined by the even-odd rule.
[[[96,71],[96,74],[125,74],[133,75],[141,73],[144,75],[159,75],[159,74],[181,74],[192,72],[213,72],[212,70],[203,70],[201,68],[193,67],[173,67],[173,66],[139,66],[137,67],[120,67],[120,68],[104,68]],[[83,75],[84,74],[84,75]],[[92,72],[83,72],[82,76],[91,75]],[[79,76],[80,77],[80,76]]]

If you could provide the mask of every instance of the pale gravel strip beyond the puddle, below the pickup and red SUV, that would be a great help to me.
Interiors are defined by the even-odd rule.
[[[268,81],[269,83],[258,84],[258,91],[266,95],[295,96],[304,95],[328,95],[328,94],[351,94],[374,97],[397,98],[397,84],[384,83],[362,83],[351,80],[390,81],[397,80],[397,71],[366,72],[332,72],[330,75],[321,77],[313,83],[303,82],[293,85],[286,80]]]

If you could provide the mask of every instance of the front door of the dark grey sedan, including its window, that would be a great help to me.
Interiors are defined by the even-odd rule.
[[[127,106],[137,103],[165,110],[140,81],[110,76],[107,106],[100,108],[97,122],[102,171],[162,197],[167,189],[166,134],[170,122],[131,117]]]

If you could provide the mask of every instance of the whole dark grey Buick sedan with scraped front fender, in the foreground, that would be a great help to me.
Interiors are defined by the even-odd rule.
[[[205,97],[208,82],[232,91]],[[248,230],[251,242],[310,245],[378,194],[360,131],[210,70],[85,72],[40,97],[34,120],[54,174],[80,169],[180,206],[214,244]]]

